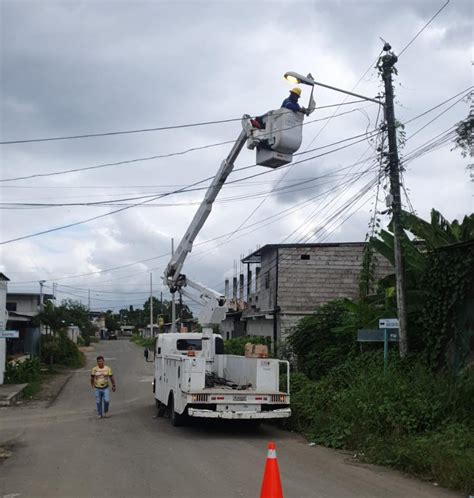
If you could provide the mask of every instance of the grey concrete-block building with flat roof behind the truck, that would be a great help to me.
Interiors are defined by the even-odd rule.
[[[242,259],[247,265],[245,333],[279,341],[317,306],[357,298],[364,247],[364,242],[269,244]],[[375,280],[392,272],[378,256]]]

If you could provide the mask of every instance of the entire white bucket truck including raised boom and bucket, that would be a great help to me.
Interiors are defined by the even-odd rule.
[[[270,168],[290,163],[301,145],[302,113],[288,109],[270,111],[263,117],[264,129],[253,128],[249,118],[242,118],[242,132],[222,162],[163,276],[172,293],[179,292],[202,306],[198,317],[202,333],[159,334],[155,344],[153,392],[157,415],[168,415],[176,426],[187,416],[262,420],[291,415],[288,362],[224,354],[222,337],[213,333],[212,325],[226,316],[225,296],[181,273],[245,142],[249,149],[257,149],[257,164]],[[284,386],[280,386],[281,374],[286,374]]]

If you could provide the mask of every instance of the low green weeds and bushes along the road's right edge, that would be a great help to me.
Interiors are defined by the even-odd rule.
[[[311,441],[362,452],[447,486],[472,486],[474,368],[460,377],[419,358],[381,352],[349,356],[324,378],[291,377],[288,428]],[[470,446],[469,446],[470,445]]]

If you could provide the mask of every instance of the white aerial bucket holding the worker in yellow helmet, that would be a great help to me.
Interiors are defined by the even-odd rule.
[[[242,120],[248,132],[247,147],[257,149],[256,163],[269,168],[278,168],[291,163],[293,153],[300,146],[303,138],[302,112],[289,109],[277,109],[260,117],[261,128],[247,125],[248,118]]]

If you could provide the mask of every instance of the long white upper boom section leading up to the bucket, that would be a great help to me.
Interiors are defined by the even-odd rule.
[[[224,161],[222,161],[219,171],[206,191],[204,200],[199,206],[199,209],[196,211],[189,228],[186,230],[184,237],[181,239],[178,248],[174,252],[171,257],[171,261],[166,267],[164,282],[168,285],[171,292],[176,292],[182,287],[185,287],[187,284],[186,276],[181,274],[184,261],[186,260],[188,253],[190,253],[193,249],[194,240],[206,222],[212,210],[212,204],[224,185],[224,182],[227,180],[227,177],[234,169],[234,162],[240,154],[242,147],[245,145],[246,139],[247,133],[245,130],[242,130],[229,155],[224,159]]]

